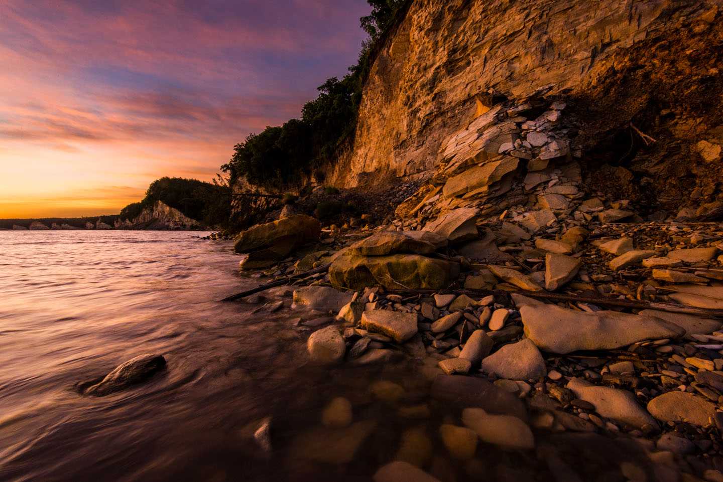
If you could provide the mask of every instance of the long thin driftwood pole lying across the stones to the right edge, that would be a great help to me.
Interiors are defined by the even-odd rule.
[[[548,291],[505,291],[505,290],[451,290],[455,294],[470,295],[470,296],[489,296],[489,295],[510,295],[513,293],[527,296],[528,298],[545,298],[555,301],[576,301],[578,303],[592,303],[607,306],[623,306],[624,308],[636,308],[636,309],[657,309],[660,311],[669,311],[672,313],[685,313],[685,314],[698,314],[707,317],[723,317],[723,309],[714,308],[698,308],[696,306],[685,306],[673,303],[661,303],[659,301],[638,301],[628,300],[626,298],[606,298],[604,296],[582,296],[582,295],[568,295],[565,293],[549,293]],[[433,290],[409,290],[405,293],[418,293],[424,295],[431,295],[440,293],[440,291]]]

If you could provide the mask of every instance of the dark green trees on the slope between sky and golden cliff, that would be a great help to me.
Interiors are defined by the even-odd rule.
[[[231,184],[245,176],[257,186],[283,188],[309,173],[317,177],[316,173],[322,172],[319,166],[332,160],[339,145],[354,132],[370,54],[404,2],[367,0],[372,12],[360,21],[369,38],[362,43],[357,64],[349,67],[343,79],[332,77],[318,87],[318,97],[304,105],[301,119],[291,119],[280,127],[268,126],[236,144],[231,160],[221,166]],[[323,176],[318,177],[317,181],[323,182]]]

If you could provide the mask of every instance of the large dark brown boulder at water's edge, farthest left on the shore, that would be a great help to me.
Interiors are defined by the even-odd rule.
[[[236,238],[234,251],[249,255],[241,262],[242,270],[268,267],[287,257],[304,242],[318,239],[320,233],[318,220],[300,214],[244,231]]]

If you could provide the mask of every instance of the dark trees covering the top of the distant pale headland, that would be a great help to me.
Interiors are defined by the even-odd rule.
[[[218,225],[228,221],[231,214],[231,188],[218,181],[211,184],[197,179],[162,177],[153,181],[141,202],[134,202],[121,210],[121,220],[133,220],[144,209],[153,209],[156,202],[174,207],[189,218],[205,225]]]

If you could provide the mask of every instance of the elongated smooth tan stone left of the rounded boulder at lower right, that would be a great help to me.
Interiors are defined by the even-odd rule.
[[[596,387],[581,378],[571,379],[567,387],[576,397],[594,405],[595,411],[606,418],[627,423],[636,429],[657,425],[655,419],[638,405],[636,397],[627,390]]]

